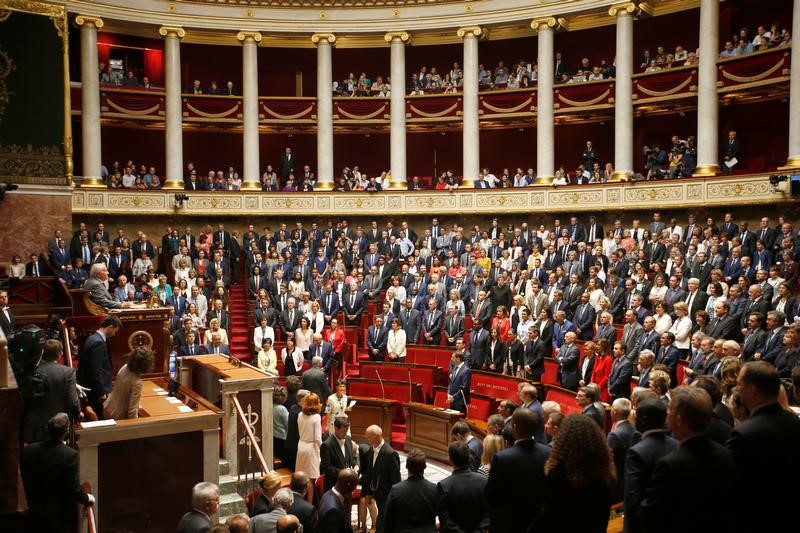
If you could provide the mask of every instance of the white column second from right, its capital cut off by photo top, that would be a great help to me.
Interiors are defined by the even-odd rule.
[[[700,64],[697,69],[697,168],[695,176],[719,172],[719,0],[700,2]]]

